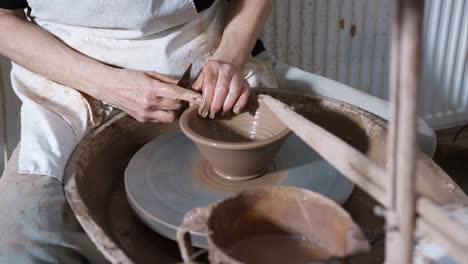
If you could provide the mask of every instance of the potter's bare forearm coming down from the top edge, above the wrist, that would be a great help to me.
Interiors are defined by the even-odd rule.
[[[242,68],[271,8],[271,0],[231,1],[221,43],[212,59]]]

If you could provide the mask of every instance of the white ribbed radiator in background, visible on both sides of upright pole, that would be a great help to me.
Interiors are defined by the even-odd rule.
[[[275,3],[262,39],[280,59],[388,98],[394,0]],[[468,120],[468,0],[427,0],[421,115],[435,128]]]

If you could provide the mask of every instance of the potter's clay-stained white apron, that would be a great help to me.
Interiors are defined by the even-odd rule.
[[[200,13],[192,0],[28,2],[34,23],[89,57],[176,77],[193,63],[192,78],[219,45],[226,13],[224,0]],[[259,60],[251,59],[244,72],[252,87],[275,86]],[[14,63],[11,80],[23,101],[18,172],[62,180],[73,149],[112,107]]]

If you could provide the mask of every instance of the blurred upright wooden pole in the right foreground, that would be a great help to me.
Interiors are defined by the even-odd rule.
[[[386,263],[411,263],[415,222],[417,98],[420,74],[422,0],[398,0],[392,32],[390,183]]]

